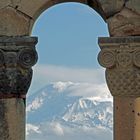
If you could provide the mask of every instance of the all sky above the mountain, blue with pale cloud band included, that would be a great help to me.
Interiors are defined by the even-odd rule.
[[[98,37],[109,35],[95,10],[80,3],[57,4],[40,15],[32,36],[39,39],[39,60],[30,93],[50,82],[105,82],[97,62]]]

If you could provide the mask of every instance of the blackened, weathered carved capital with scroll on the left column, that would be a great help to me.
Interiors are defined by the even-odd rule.
[[[25,98],[37,62],[35,37],[0,37],[0,98]]]

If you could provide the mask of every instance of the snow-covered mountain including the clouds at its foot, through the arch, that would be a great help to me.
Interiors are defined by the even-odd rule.
[[[105,93],[104,86],[56,82],[30,95],[27,139],[69,140],[74,137],[73,140],[84,140],[88,136],[88,140],[93,137],[100,140],[102,136],[111,139],[112,98]],[[100,132],[102,136],[99,136]]]

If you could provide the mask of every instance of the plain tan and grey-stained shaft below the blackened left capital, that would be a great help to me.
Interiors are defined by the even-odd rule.
[[[25,140],[23,99],[0,99],[0,139]]]

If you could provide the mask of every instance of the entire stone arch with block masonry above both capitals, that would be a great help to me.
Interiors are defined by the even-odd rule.
[[[28,36],[39,15],[63,2],[80,2],[96,10],[107,22],[110,36],[140,34],[139,0],[1,0],[0,35]]]

